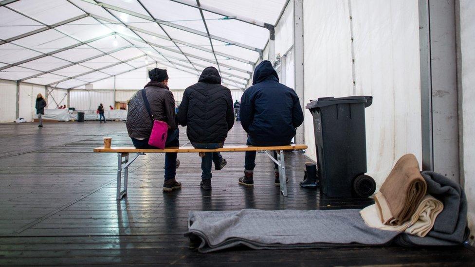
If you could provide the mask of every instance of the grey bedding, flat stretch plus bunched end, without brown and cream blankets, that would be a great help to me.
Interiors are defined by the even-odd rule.
[[[200,252],[245,245],[252,249],[328,248],[386,245],[451,246],[463,243],[467,228],[467,199],[454,181],[422,172],[427,193],[444,204],[434,228],[425,237],[366,226],[360,210],[190,212],[188,232],[199,237]]]

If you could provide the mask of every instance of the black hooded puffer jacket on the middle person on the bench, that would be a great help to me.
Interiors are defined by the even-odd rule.
[[[234,125],[231,91],[221,85],[218,70],[208,67],[198,83],[188,87],[177,114],[178,123],[186,128],[192,142],[224,142]]]

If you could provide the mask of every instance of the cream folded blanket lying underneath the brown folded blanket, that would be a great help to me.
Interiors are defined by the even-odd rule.
[[[426,195],[420,202],[416,212],[410,220],[401,225],[385,225],[380,218],[380,212],[376,204],[368,206],[360,211],[366,225],[387,231],[405,231],[406,233],[424,237],[434,226],[437,215],[442,212],[444,205],[431,195]]]

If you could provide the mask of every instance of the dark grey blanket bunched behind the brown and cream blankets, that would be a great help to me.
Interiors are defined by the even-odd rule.
[[[421,172],[427,183],[427,193],[444,204],[434,228],[425,237],[402,233],[395,239],[403,246],[450,246],[464,242],[468,236],[467,198],[460,185],[451,179],[430,171]]]

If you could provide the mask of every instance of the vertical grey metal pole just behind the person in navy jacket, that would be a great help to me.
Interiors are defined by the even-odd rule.
[[[302,1],[293,1],[293,64],[294,64],[294,90],[297,93],[300,106],[305,110],[304,95],[304,9]],[[297,128],[295,143],[305,142],[304,124]]]

